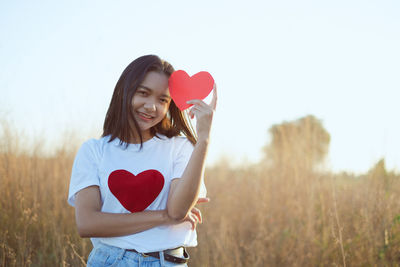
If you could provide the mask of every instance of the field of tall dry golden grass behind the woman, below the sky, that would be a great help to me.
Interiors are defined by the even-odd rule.
[[[0,137],[0,266],[84,266],[91,243],[66,201],[80,144],[49,155],[7,126]],[[383,160],[358,176],[228,163],[206,170],[211,202],[190,266],[400,265],[400,176]]]

